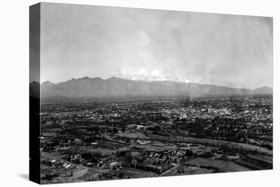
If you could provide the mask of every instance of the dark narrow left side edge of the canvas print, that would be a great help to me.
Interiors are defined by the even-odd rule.
[[[40,3],[29,9],[29,179],[40,184]]]

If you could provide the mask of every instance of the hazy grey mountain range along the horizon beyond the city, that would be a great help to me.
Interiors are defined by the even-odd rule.
[[[34,87],[36,86],[31,83],[30,88]],[[41,98],[211,98],[272,95],[272,93],[273,90],[269,87],[249,90],[197,83],[132,81],[117,77],[110,77],[108,79],[101,79],[99,77],[72,78],[67,82],[58,84],[50,82],[44,82],[41,84]]]

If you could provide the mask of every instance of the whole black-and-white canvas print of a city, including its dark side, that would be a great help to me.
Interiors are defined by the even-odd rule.
[[[272,17],[30,7],[30,178],[273,168]]]

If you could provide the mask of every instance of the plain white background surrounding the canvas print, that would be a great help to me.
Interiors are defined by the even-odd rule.
[[[275,186],[279,184],[279,147],[277,113],[279,99],[276,83],[277,44],[279,44],[279,10],[277,1],[211,0],[211,1],[152,1],[98,0],[45,1],[85,5],[179,10],[273,17],[273,170],[147,179],[97,181],[53,184],[51,186]],[[1,186],[35,186],[27,180],[29,172],[29,6],[38,1],[1,2]],[[260,75],[261,76],[261,75]]]

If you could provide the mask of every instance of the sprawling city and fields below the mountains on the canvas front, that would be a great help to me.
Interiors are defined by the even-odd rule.
[[[41,180],[272,169],[272,114],[272,96],[41,103]]]

